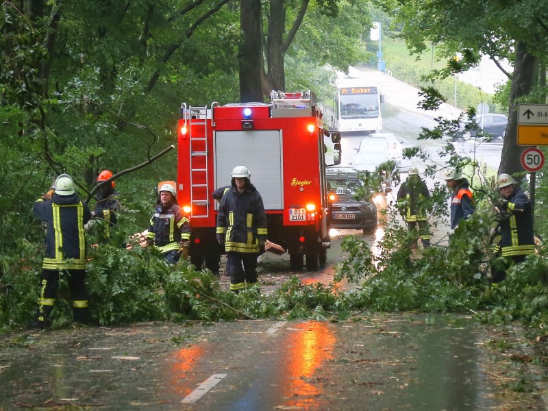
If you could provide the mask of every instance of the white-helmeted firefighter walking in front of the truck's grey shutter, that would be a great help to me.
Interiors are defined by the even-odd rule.
[[[232,170],[232,187],[221,199],[217,240],[225,246],[230,265],[230,289],[259,288],[257,258],[266,244],[266,213],[262,197],[251,184],[245,166]]]

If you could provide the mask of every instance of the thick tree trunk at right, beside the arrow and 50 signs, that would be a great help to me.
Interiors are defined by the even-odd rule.
[[[523,171],[521,153],[526,147],[519,146],[517,143],[518,108],[516,100],[529,94],[535,81],[533,75],[535,65],[536,58],[527,51],[525,43],[517,42],[514,74],[512,75],[512,86],[510,87],[510,113],[508,114],[508,127],[506,127],[506,136],[504,136],[504,145],[502,146],[499,174],[514,174]]]

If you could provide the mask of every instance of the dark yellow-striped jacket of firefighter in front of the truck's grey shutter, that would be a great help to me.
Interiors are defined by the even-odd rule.
[[[266,241],[266,226],[262,197],[253,184],[247,182],[243,192],[232,186],[223,195],[216,233],[225,239],[227,253],[258,253],[259,242]]]

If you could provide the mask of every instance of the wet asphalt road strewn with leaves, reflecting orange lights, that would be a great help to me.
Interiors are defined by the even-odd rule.
[[[303,281],[331,277],[351,233],[339,234]],[[264,293],[288,263],[265,254]],[[47,330],[0,340],[0,410],[542,409],[538,388],[515,390],[534,378],[510,361],[525,343],[443,314]]]

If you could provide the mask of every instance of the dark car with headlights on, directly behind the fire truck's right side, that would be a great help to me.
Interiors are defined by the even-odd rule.
[[[327,167],[327,187],[331,200],[331,227],[361,229],[369,234],[377,229],[377,207],[365,199],[356,199],[364,182],[353,168]]]

